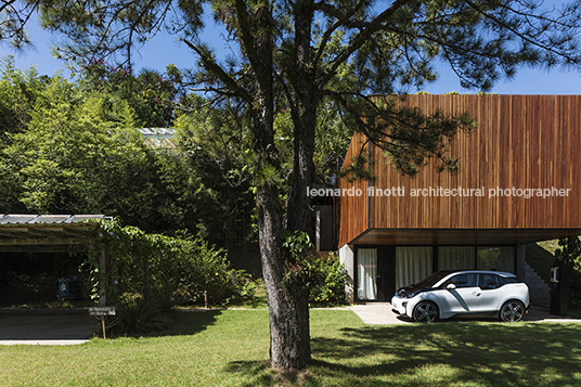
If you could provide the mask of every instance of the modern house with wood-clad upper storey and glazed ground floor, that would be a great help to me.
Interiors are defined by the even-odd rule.
[[[410,95],[425,113],[469,112],[477,129],[449,144],[455,172],[436,162],[403,176],[362,134],[373,181],[341,179],[335,224],[348,299],[389,300],[442,269],[525,276],[525,244],[581,234],[581,95]]]

